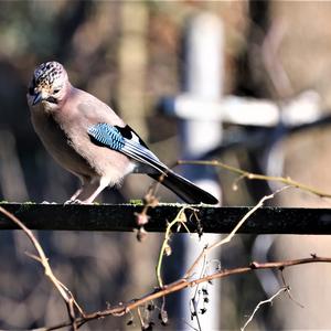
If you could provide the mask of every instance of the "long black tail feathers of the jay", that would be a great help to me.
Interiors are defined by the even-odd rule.
[[[218,200],[210,194],[209,192],[200,189],[189,180],[177,174],[175,172],[168,170],[166,175],[160,175],[157,173],[149,173],[149,177],[156,181],[160,181],[166,188],[175,193],[184,202],[190,204],[217,204]]]

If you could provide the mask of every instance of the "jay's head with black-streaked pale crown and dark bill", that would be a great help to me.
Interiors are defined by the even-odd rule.
[[[50,106],[57,105],[66,93],[67,73],[58,62],[45,62],[39,65],[28,89],[28,98],[32,106],[44,102]]]

